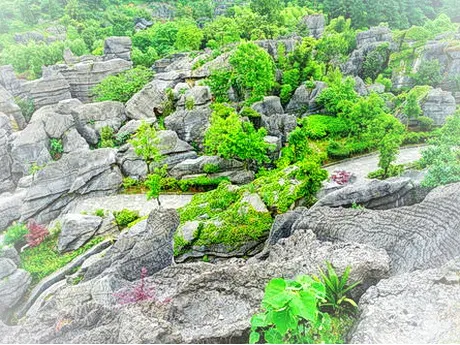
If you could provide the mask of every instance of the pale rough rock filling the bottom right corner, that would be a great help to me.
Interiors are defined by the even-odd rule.
[[[380,281],[361,297],[351,342],[444,344],[460,340],[460,257],[441,268]]]

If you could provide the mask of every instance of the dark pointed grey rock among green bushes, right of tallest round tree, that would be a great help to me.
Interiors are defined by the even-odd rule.
[[[321,106],[316,103],[316,99],[326,87],[327,84],[320,81],[315,82],[314,89],[309,89],[306,85],[299,86],[289,101],[286,112],[301,115],[320,113]]]

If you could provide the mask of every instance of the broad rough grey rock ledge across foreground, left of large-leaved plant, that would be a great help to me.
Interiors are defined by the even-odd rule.
[[[76,286],[59,286],[20,327],[0,325],[0,341],[247,342],[250,318],[260,306],[266,283],[273,277],[317,274],[326,260],[338,272],[351,265],[351,281],[361,281],[364,288],[388,272],[388,257],[383,250],[320,243],[310,231],[300,231],[274,245],[265,261],[170,266],[145,281],[147,286],[155,287],[155,301],[120,308],[115,304],[114,292],[125,285],[113,276],[89,281],[85,277]],[[355,293],[359,297],[362,292]]]

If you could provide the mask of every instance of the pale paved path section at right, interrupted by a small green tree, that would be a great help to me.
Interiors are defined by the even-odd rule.
[[[397,164],[415,162],[420,159],[425,146],[403,148],[399,152]],[[361,158],[345,160],[326,167],[329,174],[336,170],[345,170],[356,175],[357,180],[367,179],[367,175],[378,169],[379,154],[374,153]]]

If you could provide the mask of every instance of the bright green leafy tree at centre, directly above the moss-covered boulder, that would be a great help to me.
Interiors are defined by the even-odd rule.
[[[251,122],[242,121],[233,108],[215,104],[211,127],[206,131],[204,146],[208,154],[238,159],[248,169],[252,163],[267,163],[271,146],[265,142],[267,131],[255,130]]]

